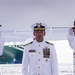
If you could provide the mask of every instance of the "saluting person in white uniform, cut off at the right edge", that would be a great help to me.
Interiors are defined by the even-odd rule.
[[[74,69],[73,75],[75,75],[75,26],[69,29],[69,34],[67,37],[68,37],[69,45],[73,49],[73,69]]]

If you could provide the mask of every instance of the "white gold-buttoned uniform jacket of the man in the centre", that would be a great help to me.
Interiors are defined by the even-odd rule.
[[[50,51],[49,57],[44,56],[44,49]],[[25,46],[22,60],[22,75],[58,75],[58,62],[55,47],[46,41],[36,40]]]

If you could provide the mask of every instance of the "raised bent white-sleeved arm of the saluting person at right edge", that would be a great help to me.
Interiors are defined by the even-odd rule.
[[[73,31],[72,29],[69,29],[69,34],[68,34],[68,42],[69,42],[69,45],[70,47],[75,50],[75,36],[73,34]]]

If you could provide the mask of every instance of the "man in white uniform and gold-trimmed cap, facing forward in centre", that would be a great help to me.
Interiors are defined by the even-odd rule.
[[[33,25],[35,40],[24,48],[22,75],[58,75],[58,61],[54,44],[44,40],[46,25]]]

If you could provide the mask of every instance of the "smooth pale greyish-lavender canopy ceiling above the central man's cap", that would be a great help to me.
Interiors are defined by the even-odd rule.
[[[0,0],[3,31],[25,30],[35,22],[49,27],[71,27],[75,20],[75,0]]]

